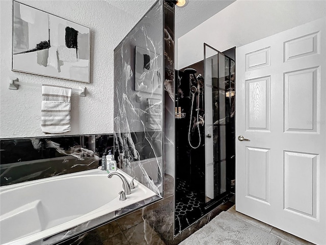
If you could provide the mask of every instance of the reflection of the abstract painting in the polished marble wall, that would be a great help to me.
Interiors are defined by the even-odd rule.
[[[135,83],[136,91],[162,94],[161,56],[135,47]]]

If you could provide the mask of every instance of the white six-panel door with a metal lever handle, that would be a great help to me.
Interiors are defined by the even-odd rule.
[[[236,48],[236,210],[323,245],[325,22]]]

